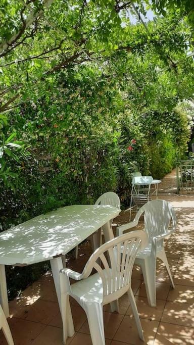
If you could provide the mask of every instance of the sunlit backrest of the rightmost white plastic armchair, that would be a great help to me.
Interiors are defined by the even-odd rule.
[[[137,212],[136,217],[139,219],[144,212],[144,228],[148,234],[149,242],[153,237],[160,236],[168,232],[170,221],[172,220],[172,230],[176,228],[176,214],[174,208],[165,200],[152,200],[143,205]],[[135,219],[134,219],[135,221]],[[160,248],[163,240],[157,242]]]

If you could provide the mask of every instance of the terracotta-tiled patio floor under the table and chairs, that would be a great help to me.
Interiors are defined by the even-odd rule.
[[[175,290],[171,289],[164,265],[157,263],[157,307],[148,306],[141,271],[134,267],[132,288],[144,330],[145,344],[194,344],[194,195],[176,195],[174,172],[161,183],[159,199],[170,201],[177,214],[177,231],[165,244],[167,257],[174,277]],[[168,193],[170,186],[170,193]],[[122,213],[114,223],[128,221]],[[89,242],[79,248],[79,258],[69,259],[67,266],[81,272],[91,253]],[[104,308],[106,344],[139,345],[128,297],[119,301],[120,313],[110,313]],[[86,315],[81,307],[71,301],[76,333],[67,344],[91,345]],[[62,345],[62,321],[57,303],[53,278],[50,273],[29,286],[22,297],[10,303],[10,328],[15,345]],[[0,344],[6,344],[3,334]]]

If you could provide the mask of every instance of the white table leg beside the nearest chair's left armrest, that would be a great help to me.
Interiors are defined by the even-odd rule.
[[[52,259],[52,260],[50,260],[50,262],[51,262],[51,269],[52,269],[52,273],[53,273],[55,288],[56,288],[56,292],[57,292],[57,298],[58,298],[58,302],[59,302],[59,308],[61,311],[61,289],[60,289],[59,271],[63,268],[63,262],[62,262],[61,257]],[[74,331],[73,319],[72,319],[72,315],[71,315],[71,308],[70,308],[69,302],[68,302],[67,309],[68,309],[68,320],[67,320],[67,322],[68,322],[68,325],[67,325],[68,334],[67,335],[73,336],[75,331]]]

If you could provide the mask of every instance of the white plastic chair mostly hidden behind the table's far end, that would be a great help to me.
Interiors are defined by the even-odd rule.
[[[99,197],[99,199],[96,200],[94,205],[110,205],[110,206],[116,207],[117,209],[120,210],[121,202],[120,202],[120,199],[116,193],[114,193],[113,191],[108,191],[108,192],[102,194]],[[112,221],[113,220],[110,221],[111,224],[112,224]],[[91,241],[91,245],[92,245],[92,249],[93,249],[95,247],[93,235],[89,236],[89,239]],[[100,242],[102,243],[102,236],[100,238]],[[77,259],[77,258],[78,258],[78,245],[75,249],[75,259]]]

